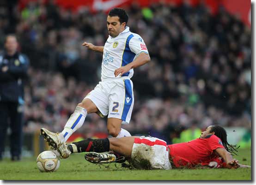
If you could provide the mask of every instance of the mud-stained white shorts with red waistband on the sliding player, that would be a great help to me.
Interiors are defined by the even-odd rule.
[[[134,138],[131,161],[137,169],[171,169],[168,147],[156,137]]]

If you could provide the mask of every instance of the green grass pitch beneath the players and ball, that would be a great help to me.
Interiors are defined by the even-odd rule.
[[[236,158],[251,164],[251,150],[240,149]],[[129,170],[120,164],[95,165],[84,160],[83,154],[71,155],[61,160],[60,168],[53,173],[37,169],[36,158],[0,162],[0,179],[3,180],[250,180],[251,169],[172,169]]]

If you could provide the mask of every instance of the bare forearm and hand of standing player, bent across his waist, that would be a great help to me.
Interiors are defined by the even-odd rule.
[[[122,76],[124,73],[130,71],[130,69],[133,69],[133,68],[136,68],[139,66],[143,66],[150,60],[151,59],[150,59],[149,54],[141,53],[133,62],[129,63],[126,66],[122,66],[122,67],[119,67],[118,69],[116,69],[114,72],[115,77],[117,77],[118,75]]]

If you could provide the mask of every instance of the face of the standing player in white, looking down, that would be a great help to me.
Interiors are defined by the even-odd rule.
[[[110,36],[116,37],[125,29],[125,23],[120,23],[119,17],[118,16],[113,16],[110,17],[108,16],[107,18],[107,27]]]

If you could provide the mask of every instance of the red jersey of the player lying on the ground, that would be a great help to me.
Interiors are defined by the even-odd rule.
[[[207,138],[198,138],[186,143],[168,145],[175,167],[195,167],[206,165],[219,156],[213,150],[225,148],[219,137],[210,135]]]

